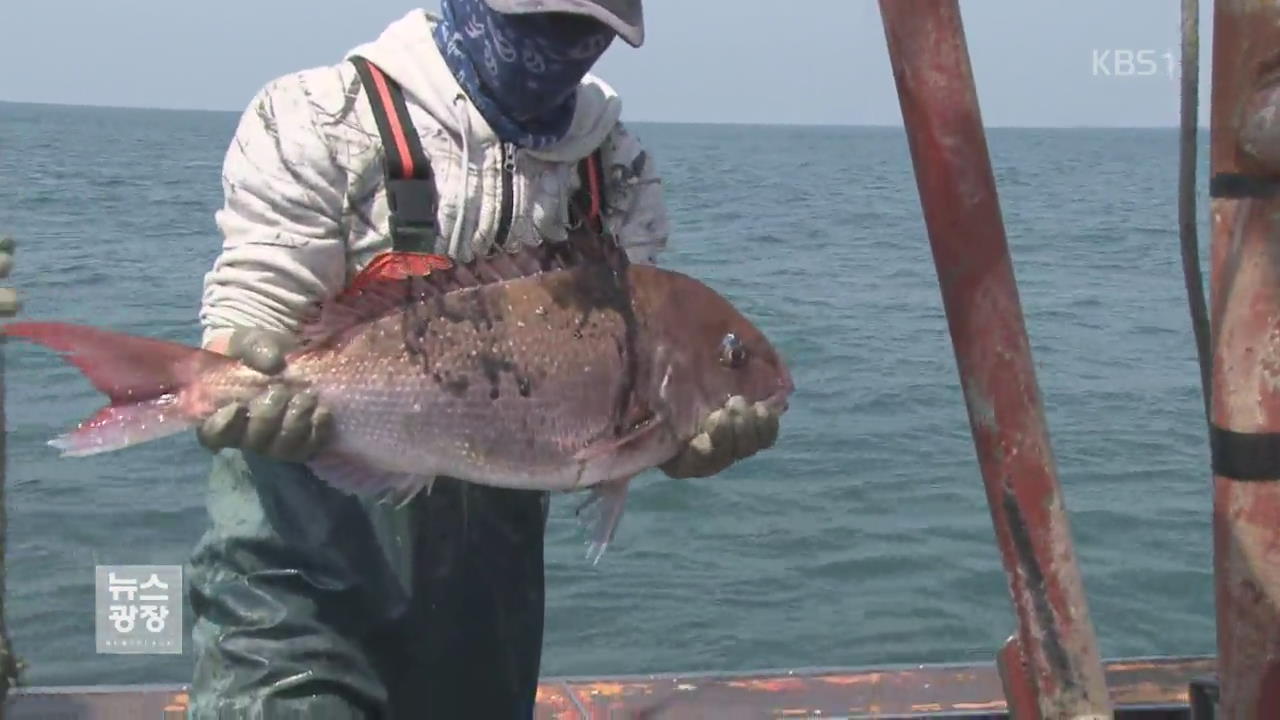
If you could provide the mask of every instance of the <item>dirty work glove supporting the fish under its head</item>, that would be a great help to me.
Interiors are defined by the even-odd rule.
[[[660,469],[671,478],[714,475],[772,447],[778,439],[778,416],[763,402],[748,405],[746,398],[735,395],[724,407],[708,415],[701,432]]]

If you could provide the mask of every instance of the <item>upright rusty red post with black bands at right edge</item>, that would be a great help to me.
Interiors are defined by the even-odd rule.
[[[1221,716],[1280,717],[1280,3],[1213,4],[1213,573]]]

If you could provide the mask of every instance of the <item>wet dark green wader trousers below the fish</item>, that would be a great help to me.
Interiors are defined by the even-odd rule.
[[[393,509],[224,450],[209,506],[193,720],[532,716],[547,493],[440,478]]]

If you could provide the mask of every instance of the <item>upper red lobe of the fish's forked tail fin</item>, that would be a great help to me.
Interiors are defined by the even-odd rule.
[[[56,351],[116,406],[177,393],[202,373],[236,361],[189,345],[70,323],[10,323],[4,334]]]

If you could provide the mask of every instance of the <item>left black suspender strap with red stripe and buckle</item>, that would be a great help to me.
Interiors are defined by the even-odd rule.
[[[390,209],[392,249],[430,252],[435,247],[435,176],[422,152],[399,85],[365,58],[351,61],[378,122],[387,163],[387,204]]]

